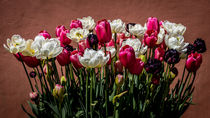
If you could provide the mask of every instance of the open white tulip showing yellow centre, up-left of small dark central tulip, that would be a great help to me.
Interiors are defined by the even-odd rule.
[[[85,40],[89,34],[87,29],[73,28],[70,30],[70,33],[67,33],[66,36],[75,42],[80,40]]]

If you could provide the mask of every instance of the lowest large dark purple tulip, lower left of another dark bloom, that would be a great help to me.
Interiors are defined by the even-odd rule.
[[[144,67],[147,73],[157,75],[162,70],[162,63],[160,60],[157,59],[148,59]]]

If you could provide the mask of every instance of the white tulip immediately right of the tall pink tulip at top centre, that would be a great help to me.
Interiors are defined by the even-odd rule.
[[[125,23],[123,23],[121,19],[113,20],[112,22],[110,22],[110,26],[111,26],[112,33],[125,32]]]

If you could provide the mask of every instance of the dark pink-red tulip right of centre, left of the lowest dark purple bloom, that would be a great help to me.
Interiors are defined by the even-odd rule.
[[[143,68],[144,68],[144,62],[142,62],[141,59],[136,59],[135,63],[133,63],[133,65],[130,66],[128,70],[131,74],[139,75],[141,74]]]

